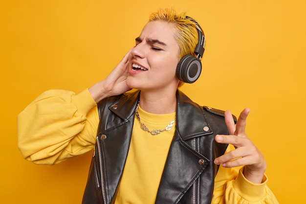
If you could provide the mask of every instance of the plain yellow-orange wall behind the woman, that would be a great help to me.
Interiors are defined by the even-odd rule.
[[[170,5],[207,39],[202,75],[182,90],[236,115],[249,107],[269,187],[282,204],[306,203],[305,0],[0,0],[0,203],[81,203],[91,152],[55,166],[22,159],[17,114],[45,90],[104,79],[149,14]]]

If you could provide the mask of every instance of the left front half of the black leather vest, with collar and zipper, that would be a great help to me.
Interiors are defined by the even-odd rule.
[[[101,182],[99,190],[102,189],[102,193],[97,196],[96,191],[90,189],[92,184],[88,183],[88,181],[97,179],[95,178],[97,176],[94,175],[95,171],[91,170],[88,176],[88,188],[86,188],[84,193],[85,199],[83,199],[83,204],[100,203],[94,199],[101,199],[102,197],[104,199],[103,203],[110,204],[115,197],[129,151],[134,111],[138,98],[139,91],[136,91],[127,96],[120,95],[107,98],[105,99],[106,101],[98,104],[100,124],[97,135],[98,142],[95,145],[96,163],[92,164],[91,168],[101,169],[99,170],[98,181]]]

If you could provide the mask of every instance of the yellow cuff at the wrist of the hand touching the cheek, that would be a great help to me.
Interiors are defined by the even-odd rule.
[[[84,116],[86,116],[92,108],[97,106],[88,89],[80,92],[79,94],[73,95],[71,97],[71,102],[76,105],[78,112]]]

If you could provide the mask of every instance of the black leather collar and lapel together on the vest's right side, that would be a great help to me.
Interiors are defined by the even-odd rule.
[[[177,91],[176,131],[155,204],[176,204],[191,188],[210,160],[185,141],[212,133],[202,107]]]

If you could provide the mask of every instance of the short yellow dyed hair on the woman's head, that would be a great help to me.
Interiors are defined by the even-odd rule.
[[[176,12],[174,8],[158,9],[149,17],[149,22],[165,21],[173,23],[176,29],[175,40],[180,47],[179,58],[184,55],[195,55],[194,51],[198,42],[197,23],[186,16],[186,12]]]

